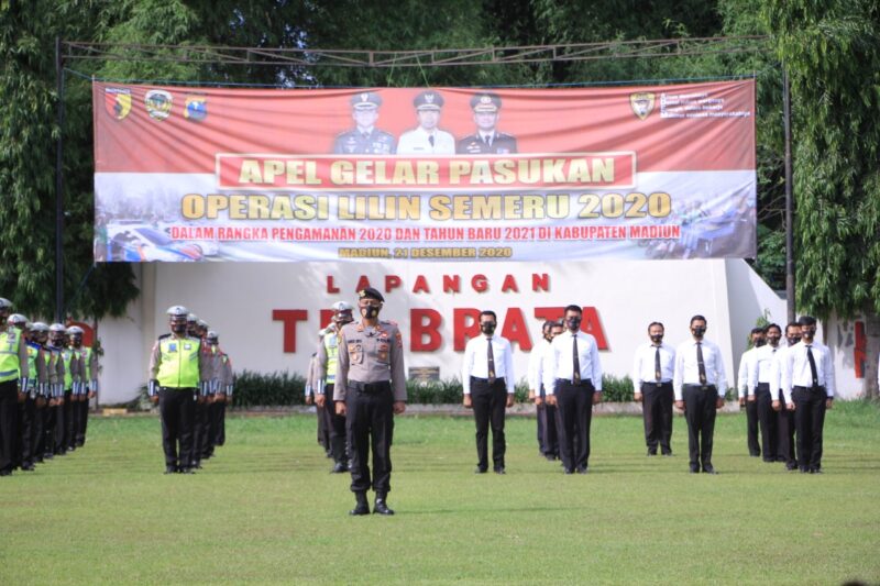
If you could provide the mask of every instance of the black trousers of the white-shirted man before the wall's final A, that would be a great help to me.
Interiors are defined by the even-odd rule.
[[[565,469],[586,468],[590,461],[590,424],[593,420],[592,380],[572,385],[570,380],[557,379],[557,409],[561,427],[559,452]]]

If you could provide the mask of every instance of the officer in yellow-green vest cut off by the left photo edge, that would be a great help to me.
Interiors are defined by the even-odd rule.
[[[0,323],[11,309],[12,302],[0,297]],[[29,376],[28,345],[21,330],[10,327],[0,339],[0,476],[12,474],[16,460],[19,399],[24,400]]]

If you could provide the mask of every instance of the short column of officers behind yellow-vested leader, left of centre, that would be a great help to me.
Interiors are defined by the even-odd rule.
[[[150,355],[147,395],[158,405],[165,474],[193,474],[226,443],[232,361],[208,323],[184,306],[167,310],[170,332]]]

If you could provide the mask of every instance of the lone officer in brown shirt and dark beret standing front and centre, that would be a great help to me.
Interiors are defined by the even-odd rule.
[[[373,512],[394,515],[388,508],[394,414],[406,410],[406,374],[400,330],[380,321],[385,299],[367,287],[359,292],[361,321],[340,331],[339,363],[333,386],[337,412],[345,416],[351,449],[351,490],[356,506],[350,515],[369,515],[366,491],[376,493]],[[370,476],[370,446],[373,446],[373,477]]]

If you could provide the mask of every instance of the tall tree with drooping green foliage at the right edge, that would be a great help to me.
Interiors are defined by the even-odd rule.
[[[821,318],[865,317],[865,391],[877,397],[880,5],[772,0],[763,18],[791,77],[798,306]]]

